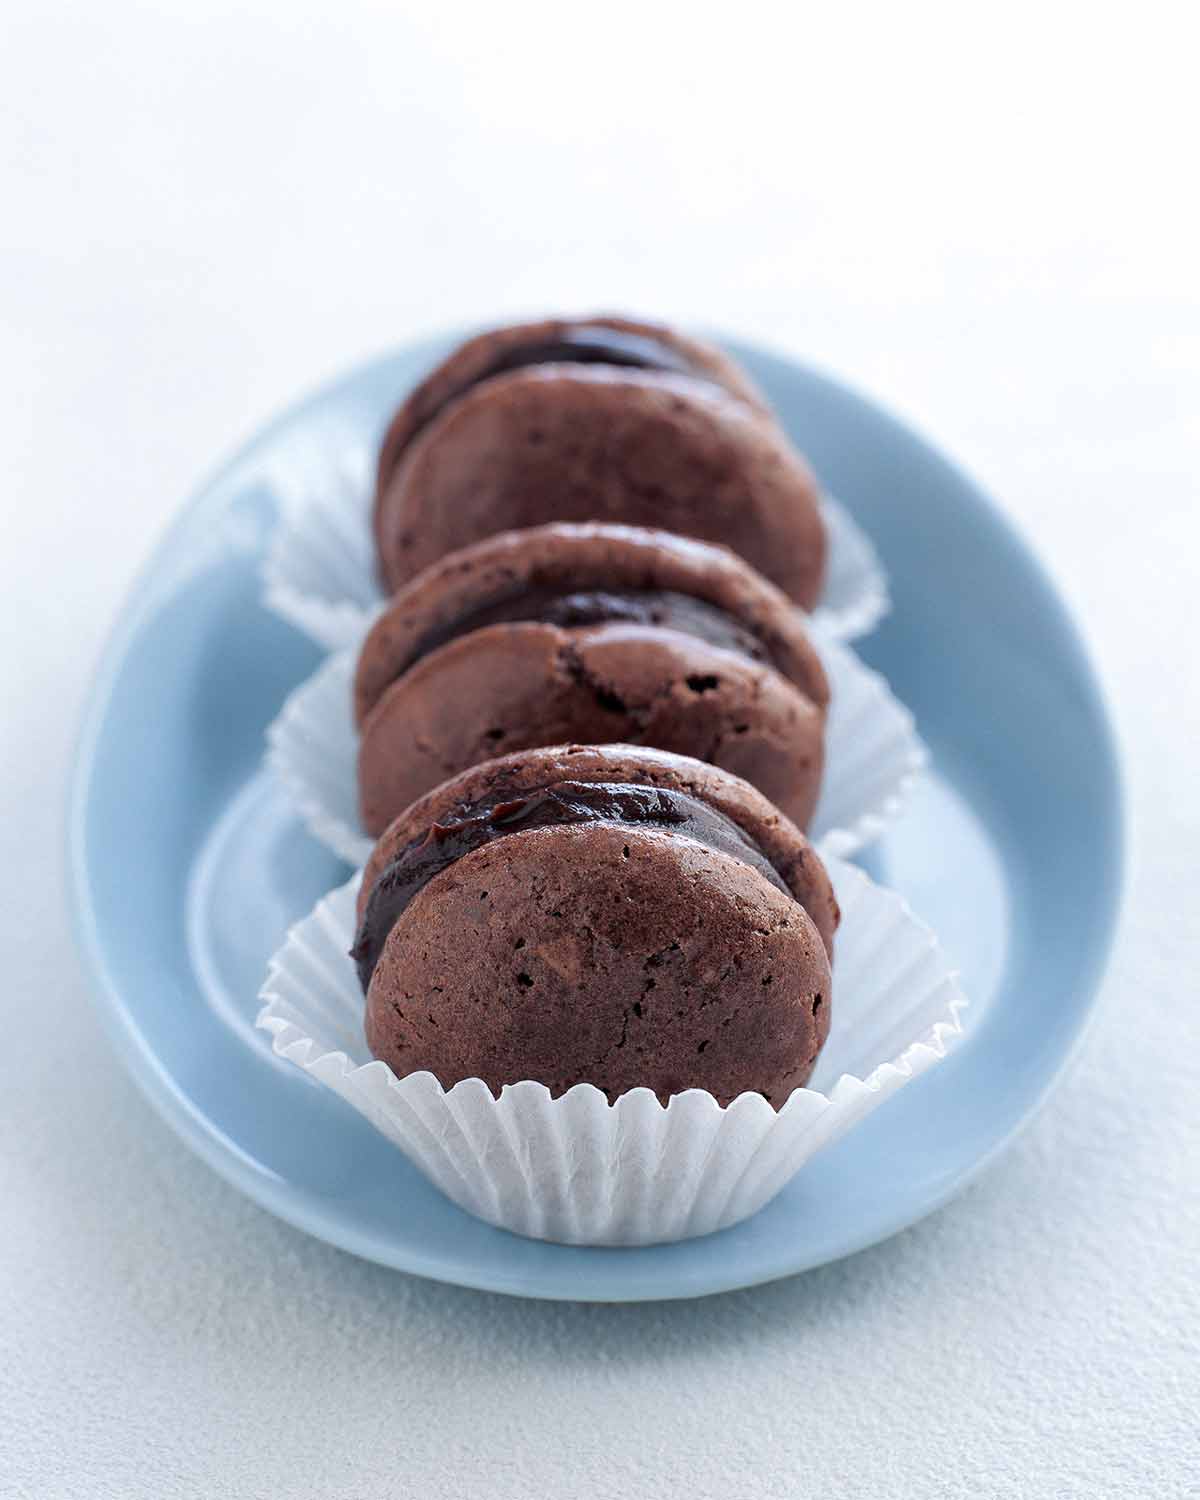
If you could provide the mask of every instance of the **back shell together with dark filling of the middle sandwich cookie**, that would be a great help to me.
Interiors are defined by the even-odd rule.
[[[818,708],[830,688],[802,618],[728,548],[600,524],[506,531],[430,564],[369,632],[354,682],[362,724],[387,687],[459,636],[502,622],[658,626],[766,663]]]

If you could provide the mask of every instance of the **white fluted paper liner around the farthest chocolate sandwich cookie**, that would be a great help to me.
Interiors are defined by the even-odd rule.
[[[357,640],[384,603],[370,532],[374,456],[362,446],[312,447],[272,476],[280,513],[262,564],[274,614],[330,651]],[[888,612],[888,584],[866,532],[824,498],[830,534],[825,591],[813,618],[832,638],[867,634]]]

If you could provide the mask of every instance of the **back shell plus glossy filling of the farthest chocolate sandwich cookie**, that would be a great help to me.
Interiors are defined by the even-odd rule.
[[[746,374],[718,348],[664,324],[606,314],[489,328],[460,344],[402,404],[380,450],[378,494],[384,494],[412,438],[452,402],[488,380],[537,364],[602,364],[687,375],[766,410]]]

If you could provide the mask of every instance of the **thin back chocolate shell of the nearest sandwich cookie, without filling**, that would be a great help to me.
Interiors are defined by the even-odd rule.
[[[748,782],[718,766],[666,750],[627,744],[560,744],[498,756],[459,772],[404,810],[376,842],[358,890],[358,920],[378,876],[414,838],[435,822],[450,822],[465,807],[498,795],[555,782],[627,782],[686,792],[716,807],[736,824],[778,870],[796,902],[813,920],[832,954],[838,922],[832,884],[816,850],[795,824]]]

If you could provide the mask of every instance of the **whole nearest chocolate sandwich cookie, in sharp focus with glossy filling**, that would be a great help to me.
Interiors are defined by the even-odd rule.
[[[352,956],[398,1076],[780,1107],[830,1029],[837,902],[746,782],[633,746],[472,766],[363,872]]]

